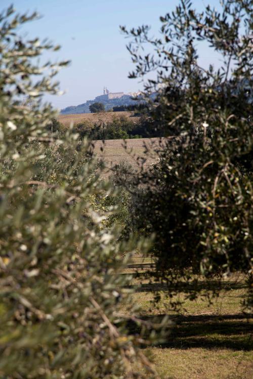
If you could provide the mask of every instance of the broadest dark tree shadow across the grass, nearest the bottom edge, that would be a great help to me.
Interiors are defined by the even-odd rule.
[[[146,321],[159,322],[165,315],[144,316]],[[160,348],[205,348],[205,349],[231,349],[253,350],[252,324],[244,314],[227,315],[190,315],[171,317],[174,325],[170,334]],[[131,334],[136,333],[137,324],[129,323]]]

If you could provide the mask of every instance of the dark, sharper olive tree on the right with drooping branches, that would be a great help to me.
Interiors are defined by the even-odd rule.
[[[144,80],[154,125],[167,136],[158,163],[136,178],[146,190],[135,194],[135,220],[156,234],[157,274],[170,282],[189,267],[206,277],[242,270],[252,280],[252,9],[247,0],[220,8],[199,13],[181,0],[160,17],[157,38],[146,25],[121,27],[136,64],[130,77]],[[197,65],[202,43],[206,69]]]

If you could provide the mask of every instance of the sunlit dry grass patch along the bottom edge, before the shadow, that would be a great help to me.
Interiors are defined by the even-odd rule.
[[[152,349],[162,379],[249,379],[252,378],[252,354],[247,351],[191,347],[188,349]]]

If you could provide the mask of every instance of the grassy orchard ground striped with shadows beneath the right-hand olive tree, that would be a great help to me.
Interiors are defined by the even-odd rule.
[[[141,265],[143,267],[141,269]],[[150,258],[137,257],[127,271],[145,271]],[[233,274],[223,279],[221,292],[212,304],[199,298],[187,300],[179,314],[168,310],[165,291],[154,309],[153,291],[159,285],[147,279],[134,278],[141,287],[134,294],[142,308],[142,316],[171,316],[171,333],[161,346],[148,348],[161,379],[249,379],[253,377],[252,322],[242,313],[241,302],[246,294],[244,276]],[[214,286],[217,281],[212,280]],[[204,283],[203,283],[204,288]],[[179,298],[184,294],[180,293]]]

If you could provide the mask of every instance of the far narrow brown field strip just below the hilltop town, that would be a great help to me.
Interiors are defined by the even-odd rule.
[[[135,112],[98,112],[98,113],[80,113],[73,115],[59,115],[58,120],[64,125],[69,126],[71,122],[77,124],[79,122],[91,122],[96,123],[107,123],[113,120],[120,119],[120,117],[130,118],[133,122],[138,122],[140,117],[134,116]]]

